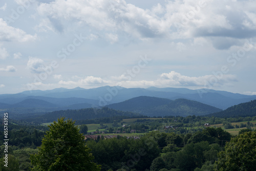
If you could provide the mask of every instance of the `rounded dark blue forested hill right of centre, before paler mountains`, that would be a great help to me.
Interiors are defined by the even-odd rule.
[[[169,100],[157,97],[140,96],[120,103],[107,105],[108,108],[130,111],[146,116],[188,116],[205,115],[221,109],[193,100]]]

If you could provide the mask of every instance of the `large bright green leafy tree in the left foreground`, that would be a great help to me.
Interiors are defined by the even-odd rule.
[[[32,170],[100,170],[100,166],[92,162],[94,157],[74,124],[70,119],[60,118],[49,125],[38,154],[30,156],[35,165]]]

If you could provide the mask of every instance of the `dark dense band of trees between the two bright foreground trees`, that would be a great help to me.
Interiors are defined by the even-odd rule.
[[[136,140],[102,137],[86,144],[102,170],[190,171],[205,166],[213,168],[217,154],[230,139],[230,134],[221,128],[207,127],[194,134],[153,131]]]

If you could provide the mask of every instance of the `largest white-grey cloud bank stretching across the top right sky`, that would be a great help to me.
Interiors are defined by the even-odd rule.
[[[142,40],[247,38],[256,34],[256,7],[252,1],[165,1],[164,5],[157,4],[151,10],[128,2],[57,0],[41,3],[37,11],[39,15],[48,18],[52,26],[60,32],[73,27],[70,24],[73,22],[75,25],[89,26],[95,32],[98,31],[98,34],[108,38],[112,44],[122,32]],[[110,31],[112,33],[108,33]]]

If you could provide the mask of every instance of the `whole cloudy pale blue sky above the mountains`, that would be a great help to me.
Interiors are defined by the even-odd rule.
[[[255,1],[0,2],[0,94],[122,86],[255,95],[255,54]]]

